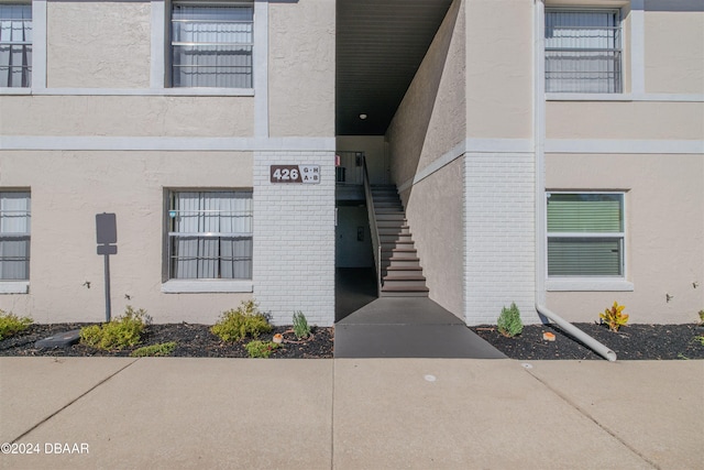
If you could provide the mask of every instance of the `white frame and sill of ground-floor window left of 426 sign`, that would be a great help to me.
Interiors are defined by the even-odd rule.
[[[253,291],[253,283],[251,276],[249,278],[196,278],[196,277],[172,277],[172,240],[175,237],[205,237],[205,238],[218,238],[218,237],[245,237],[253,240],[254,230],[251,232],[238,232],[238,233],[221,233],[221,232],[176,232],[172,231],[174,227],[173,219],[178,217],[177,210],[173,207],[173,200],[179,193],[197,193],[200,195],[207,195],[209,193],[249,193],[253,198],[252,188],[172,188],[165,190],[165,206],[164,206],[164,282],[162,283],[162,292],[168,294],[178,293],[251,293]],[[253,226],[253,208],[252,208],[252,226]],[[253,258],[254,250],[252,248],[251,256]],[[253,263],[252,259],[252,263]]]

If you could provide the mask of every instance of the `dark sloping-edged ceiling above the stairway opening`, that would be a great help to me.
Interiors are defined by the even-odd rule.
[[[452,0],[338,0],[336,133],[383,135]],[[360,114],[367,119],[360,119]]]

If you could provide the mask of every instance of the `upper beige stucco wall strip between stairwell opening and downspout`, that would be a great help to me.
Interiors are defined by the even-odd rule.
[[[466,2],[466,135],[532,135],[532,2]]]

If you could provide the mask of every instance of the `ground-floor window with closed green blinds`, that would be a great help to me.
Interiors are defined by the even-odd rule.
[[[548,193],[548,276],[624,277],[624,194]]]

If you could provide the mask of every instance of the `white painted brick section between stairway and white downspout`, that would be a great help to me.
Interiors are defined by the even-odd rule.
[[[529,153],[464,157],[465,314],[495,324],[515,302],[525,324],[535,309],[535,162]]]

